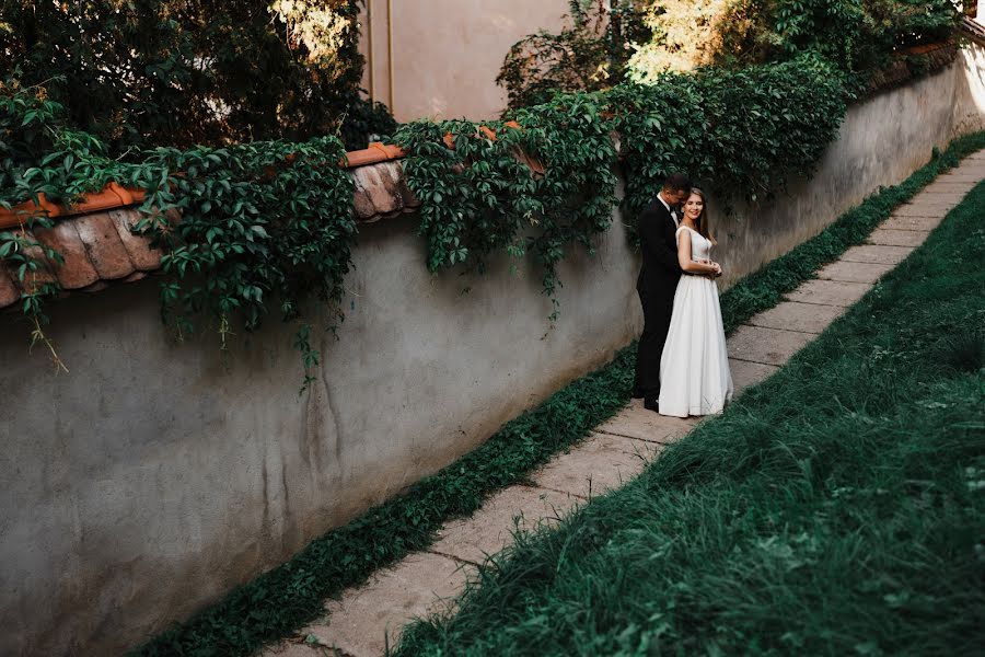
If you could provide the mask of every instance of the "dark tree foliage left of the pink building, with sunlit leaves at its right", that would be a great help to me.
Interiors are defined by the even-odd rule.
[[[0,71],[111,151],[395,127],[359,97],[362,0],[2,0]]]

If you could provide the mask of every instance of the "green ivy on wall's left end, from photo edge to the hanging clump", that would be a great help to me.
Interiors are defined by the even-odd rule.
[[[285,321],[299,321],[296,345],[310,374],[320,354],[310,346],[302,310],[310,298],[339,303],[356,235],[352,182],[338,165],[341,141],[158,148],[114,159],[96,137],[67,129],[62,107],[42,89],[12,84],[0,93],[0,129],[13,136],[0,151],[0,205],[42,193],[71,204],[111,181],[144,189],[136,228],[164,252],[165,322],[179,335],[211,324],[224,348],[237,325],[253,331],[268,309],[278,309]],[[46,258],[60,256],[25,229],[50,226],[45,216],[25,215],[20,229],[0,232],[0,257],[32,290],[23,303],[35,336],[47,321],[42,301],[58,289],[25,283]]]

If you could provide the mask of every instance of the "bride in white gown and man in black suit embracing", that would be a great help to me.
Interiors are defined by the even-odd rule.
[[[732,374],[705,194],[686,175],[671,175],[640,214],[638,230],[644,332],[633,396],[661,415],[719,413],[732,399]]]

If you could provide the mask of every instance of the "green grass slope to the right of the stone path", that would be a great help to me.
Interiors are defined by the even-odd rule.
[[[985,646],[985,184],[776,376],[397,655]]]

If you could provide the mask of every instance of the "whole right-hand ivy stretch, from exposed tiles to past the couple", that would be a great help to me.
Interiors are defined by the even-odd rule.
[[[848,93],[816,58],[739,71],[667,73],[657,84],[560,94],[515,111],[520,129],[488,122],[416,122],[395,140],[409,151],[408,184],[421,200],[428,267],[482,272],[498,251],[532,253],[554,297],[570,243],[592,250],[611,222],[613,131],[626,171],[627,216],[663,178],[686,171],[725,197],[765,199],[807,177],[836,137]],[[443,139],[451,136],[454,148]],[[523,158],[543,164],[543,175]]]

